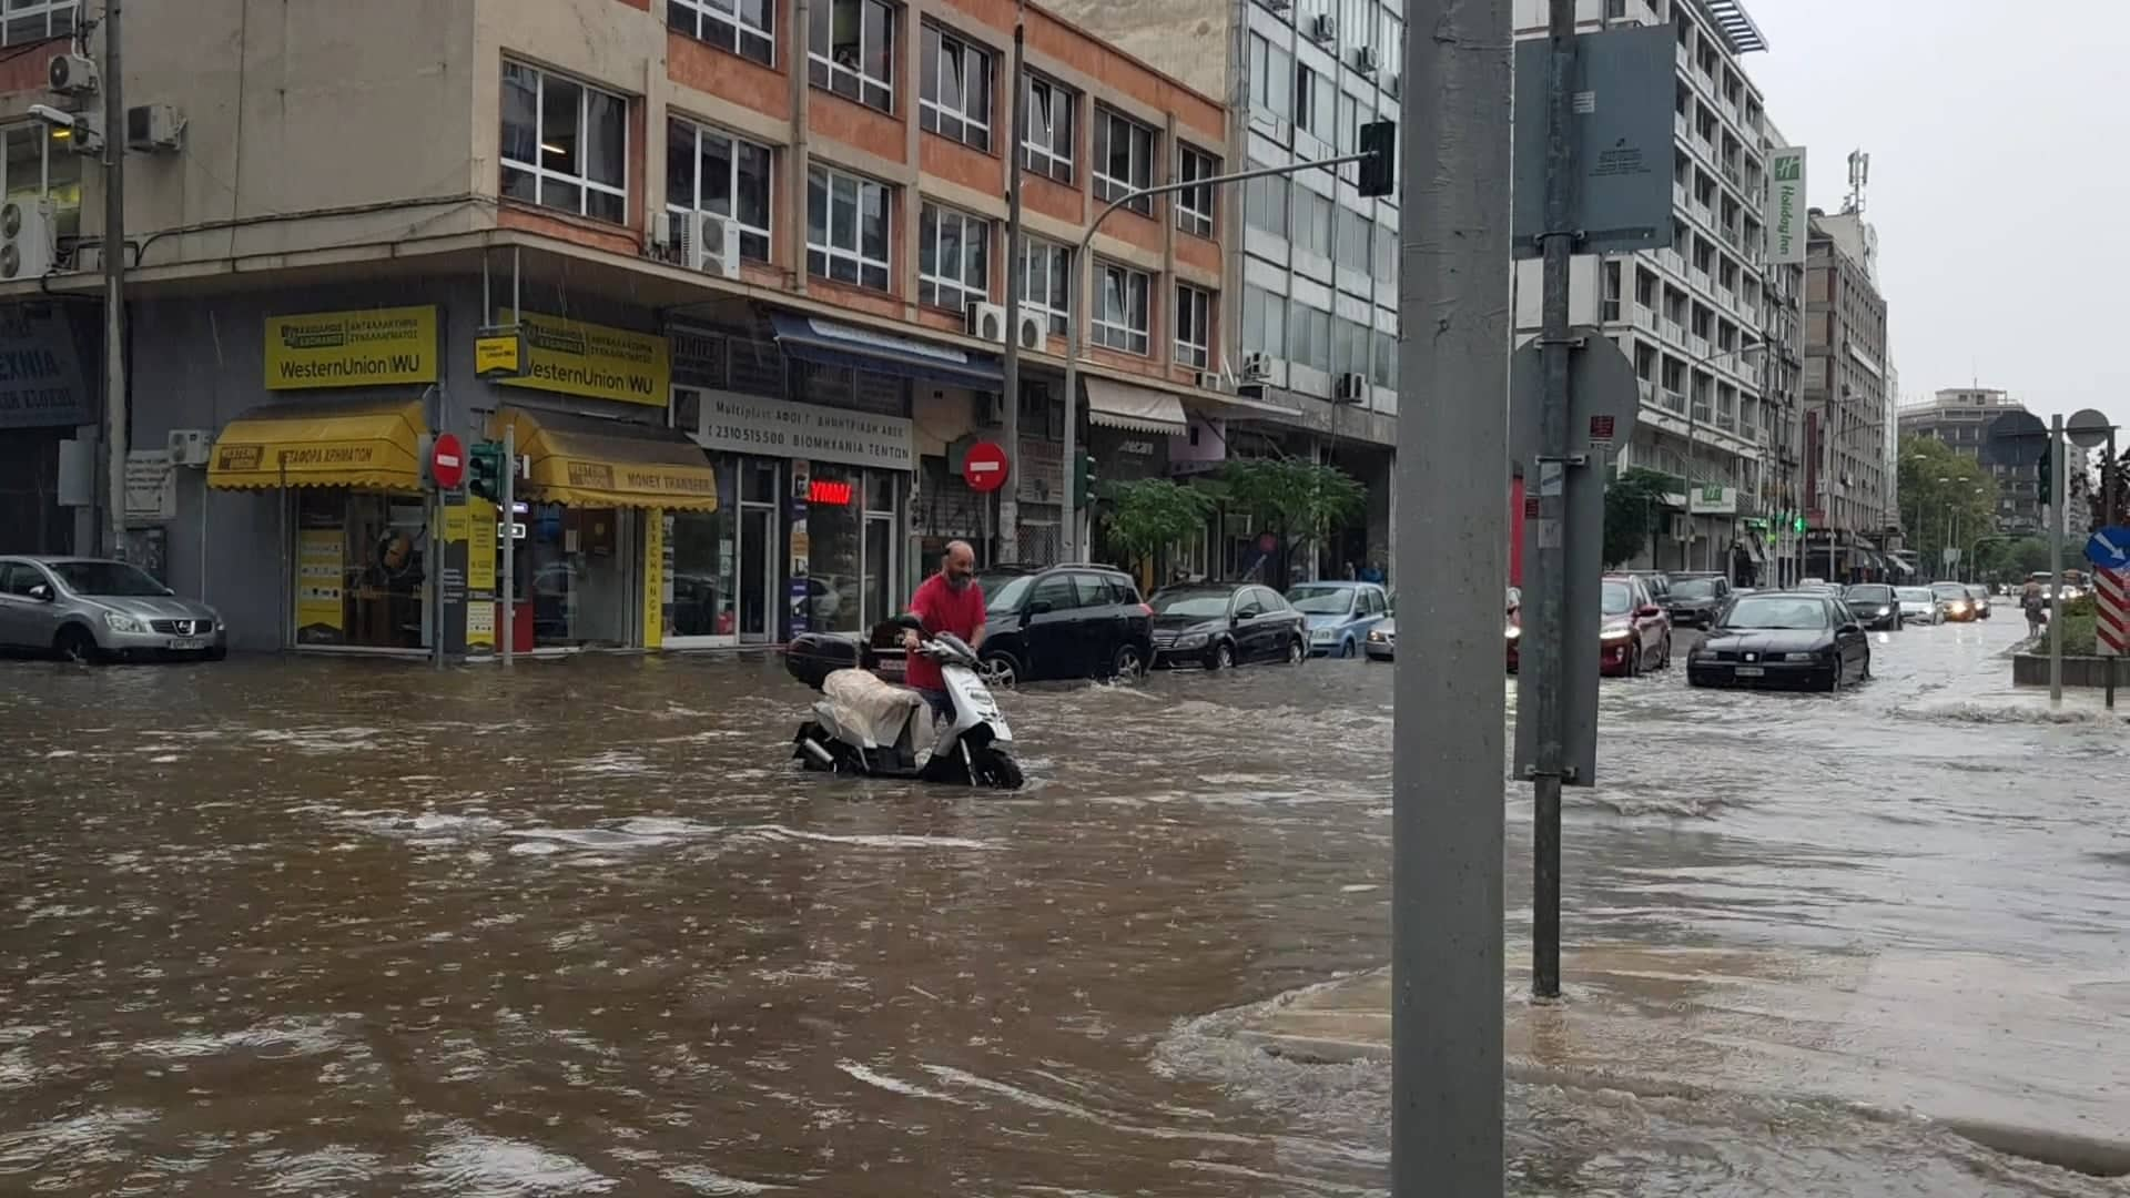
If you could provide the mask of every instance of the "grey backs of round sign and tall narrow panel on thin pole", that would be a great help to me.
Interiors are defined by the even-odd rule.
[[[1610,337],[1598,328],[1576,326],[1572,337],[1583,341],[1568,358],[1570,401],[1568,401],[1568,454],[1587,456],[1587,465],[1563,467],[1542,463],[1540,456],[1540,411],[1544,409],[1546,377],[1540,365],[1540,350],[1529,343],[1510,358],[1508,367],[1508,454],[1514,473],[1525,482],[1525,522],[1529,531],[1525,546],[1561,546],[1568,558],[1568,659],[1559,667],[1561,712],[1566,716],[1566,740],[1561,742],[1561,763],[1572,772],[1570,787],[1589,787],[1598,778],[1598,654],[1600,625],[1604,622],[1604,460],[1602,443],[1591,441],[1591,428],[1604,428],[1610,418],[1612,439],[1621,446],[1634,443],[1634,424],[1640,414],[1642,392],[1634,362],[1621,354]],[[1546,492],[1563,495],[1566,522],[1549,529],[1538,518],[1534,497]],[[1551,580],[1544,571],[1542,554],[1523,558],[1523,667],[1517,671],[1517,778],[1525,778],[1538,761],[1538,729],[1521,712],[1536,712],[1538,699],[1531,695],[1531,669],[1538,640],[1531,637],[1538,620],[1536,595]]]

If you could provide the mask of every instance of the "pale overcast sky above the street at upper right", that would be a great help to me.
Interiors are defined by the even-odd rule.
[[[2011,390],[2130,424],[2130,2],[1744,0],[1768,117],[1840,211],[1870,153],[1902,399]]]

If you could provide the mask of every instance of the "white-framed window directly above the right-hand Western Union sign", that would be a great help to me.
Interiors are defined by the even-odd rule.
[[[628,100],[562,75],[503,64],[503,194],[628,220]]]

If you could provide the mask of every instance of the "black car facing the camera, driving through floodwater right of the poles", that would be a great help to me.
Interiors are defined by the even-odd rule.
[[[1870,635],[1849,603],[1817,590],[1732,599],[1693,646],[1693,686],[1802,686],[1840,691],[1870,678]]]

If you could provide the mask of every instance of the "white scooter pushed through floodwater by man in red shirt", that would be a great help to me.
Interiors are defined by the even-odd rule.
[[[897,620],[895,629],[914,625]],[[792,738],[792,757],[807,770],[835,774],[1018,791],[1022,774],[1012,755],[1014,731],[976,671],[976,650],[956,635],[939,633],[916,652],[939,663],[952,703],[952,718],[939,727],[922,759],[916,740],[931,727],[931,703],[922,695],[873,674],[869,646],[833,635],[794,637],[784,657],[786,669],[818,689],[822,699]]]

